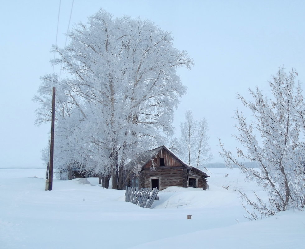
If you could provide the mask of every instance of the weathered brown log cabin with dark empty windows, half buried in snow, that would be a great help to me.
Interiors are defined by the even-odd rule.
[[[127,167],[135,163],[142,169],[138,175],[125,172],[127,186],[159,190],[170,186],[208,188],[206,178],[209,176],[206,173],[187,165],[165,146],[137,155]]]

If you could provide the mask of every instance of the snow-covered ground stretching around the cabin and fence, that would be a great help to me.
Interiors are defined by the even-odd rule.
[[[45,191],[44,169],[0,169],[0,248],[304,248],[305,209],[249,221],[238,190],[266,193],[239,169],[210,171],[209,190],[170,187],[145,209],[97,178]]]

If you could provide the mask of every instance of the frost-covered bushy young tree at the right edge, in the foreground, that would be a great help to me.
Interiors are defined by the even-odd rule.
[[[251,219],[305,205],[305,144],[301,140],[305,137],[305,104],[300,85],[294,83],[296,75],[295,70],[286,74],[280,67],[277,75],[269,81],[272,99],[264,96],[258,88],[250,90],[253,102],[238,95],[238,99],[251,109],[256,122],[247,123],[243,114],[236,111],[239,134],[234,137],[244,147],[237,148],[237,155],[257,162],[259,169],[247,168],[220,143],[226,165],[238,165],[247,175],[247,180],[256,181],[268,191],[268,202],[257,195],[258,201],[253,202],[241,193],[253,208],[253,212],[249,211]],[[260,134],[260,139],[254,132]]]

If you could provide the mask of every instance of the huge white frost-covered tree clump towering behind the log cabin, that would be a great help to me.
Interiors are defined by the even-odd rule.
[[[124,165],[173,133],[174,109],[186,90],[176,69],[190,69],[193,60],[151,21],[113,18],[104,10],[87,25],[75,25],[68,37],[66,48],[53,48],[59,54],[53,63],[63,62],[67,78],[57,83],[56,75],[42,77],[37,123],[49,120],[53,84],[54,165],[111,175],[112,187],[122,188]]]

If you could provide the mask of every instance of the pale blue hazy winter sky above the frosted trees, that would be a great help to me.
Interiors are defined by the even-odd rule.
[[[64,46],[72,0],[62,0],[58,45]],[[5,1],[1,4],[0,167],[44,167],[41,149],[50,124],[34,125],[32,101],[39,77],[52,72],[59,0]],[[115,17],[150,19],[171,31],[174,46],[194,58],[191,71],[179,69],[187,94],[176,111],[177,133],[184,113],[206,117],[214,162],[218,138],[234,150],[236,93],[249,96],[259,86],[268,93],[271,74],[284,65],[305,79],[305,1],[81,1],[75,0],[71,27],[105,9]],[[245,110],[246,111],[246,110]],[[249,117],[251,118],[251,117]]]

